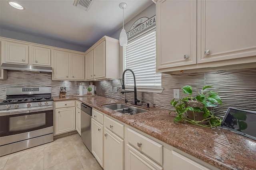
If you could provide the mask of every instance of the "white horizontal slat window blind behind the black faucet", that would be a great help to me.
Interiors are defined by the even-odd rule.
[[[125,69],[136,77],[136,86],[160,87],[161,73],[156,73],[156,31],[141,35],[125,47]],[[125,74],[126,86],[134,86],[130,71]]]

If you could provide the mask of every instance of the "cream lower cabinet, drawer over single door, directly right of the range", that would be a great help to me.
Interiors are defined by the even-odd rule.
[[[76,130],[75,101],[54,102],[54,135]]]

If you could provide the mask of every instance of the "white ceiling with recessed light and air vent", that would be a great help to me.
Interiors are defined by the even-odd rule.
[[[8,0],[0,0],[0,27],[91,47],[104,35],[110,36],[122,27],[121,2],[126,2],[124,22],[130,21],[152,0],[92,0],[88,12],[73,6],[74,0],[14,0],[25,7],[16,10]]]

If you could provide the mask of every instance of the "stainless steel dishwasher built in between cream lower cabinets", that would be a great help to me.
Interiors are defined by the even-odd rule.
[[[81,138],[84,145],[92,152],[91,134],[92,107],[81,104]]]

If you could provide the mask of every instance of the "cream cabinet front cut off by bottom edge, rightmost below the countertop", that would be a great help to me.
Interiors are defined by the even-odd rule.
[[[171,161],[171,160],[170,160]],[[209,170],[205,166],[198,164],[197,162],[179,154],[172,150],[172,169],[173,170]]]

